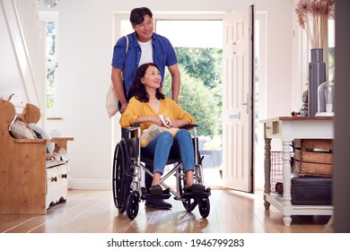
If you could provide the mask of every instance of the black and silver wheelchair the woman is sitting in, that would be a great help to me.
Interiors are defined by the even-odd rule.
[[[193,131],[192,141],[195,151],[195,183],[204,186],[203,169],[201,162],[203,157],[198,151],[197,125],[187,125],[185,127]],[[176,201],[180,201],[188,212],[192,212],[198,205],[200,215],[206,218],[210,212],[209,196],[211,189],[209,187],[200,194],[186,193],[183,188],[186,185],[186,176],[183,170],[183,164],[179,158],[179,152],[171,152],[167,165],[173,168],[162,176],[161,184],[165,189],[162,195],[150,195],[144,186],[145,175],[153,177],[153,173],[145,168],[145,164],[153,165],[153,160],[147,156],[141,156],[140,125],[131,125],[127,128],[127,137],[122,138],[114,151],[112,189],[113,199],[119,213],[127,212],[127,217],[134,220],[139,210],[139,203],[148,198],[169,199],[174,195]],[[171,188],[164,182],[168,177],[176,177],[176,189]]]

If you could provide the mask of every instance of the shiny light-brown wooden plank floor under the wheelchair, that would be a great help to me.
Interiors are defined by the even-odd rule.
[[[329,216],[293,216],[285,227],[274,207],[264,209],[263,195],[213,189],[211,210],[202,219],[198,209],[186,212],[182,203],[169,200],[171,210],[140,209],[134,221],[118,214],[111,191],[70,190],[66,203],[47,215],[0,215],[0,232],[6,233],[329,233]]]

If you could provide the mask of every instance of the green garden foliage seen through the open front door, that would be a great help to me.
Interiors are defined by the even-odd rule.
[[[179,58],[179,105],[196,118],[198,135],[222,134],[222,57],[215,48],[175,48]],[[171,76],[166,74],[164,93],[171,97]]]

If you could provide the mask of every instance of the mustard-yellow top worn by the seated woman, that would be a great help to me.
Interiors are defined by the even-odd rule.
[[[161,114],[165,114],[167,117],[170,117],[173,120],[186,118],[189,124],[196,122],[194,117],[190,116],[188,112],[180,108],[174,100],[171,100],[168,97],[165,97],[164,100],[161,100],[161,106],[158,113],[154,111],[148,102],[142,102],[133,97],[129,100],[127,109],[121,115],[119,123],[121,127],[127,128],[128,126],[136,123],[137,117],[158,116]],[[140,124],[140,127],[141,130],[144,131],[144,129],[147,129],[151,125],[151,122],[146,122]]]

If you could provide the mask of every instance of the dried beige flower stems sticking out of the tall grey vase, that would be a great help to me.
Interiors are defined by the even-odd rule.
[[[311,48],[327,46],[328,19],[334,18],[334,4],[335,0],[300,0],[294,4],[298,22],[306,31]]]

